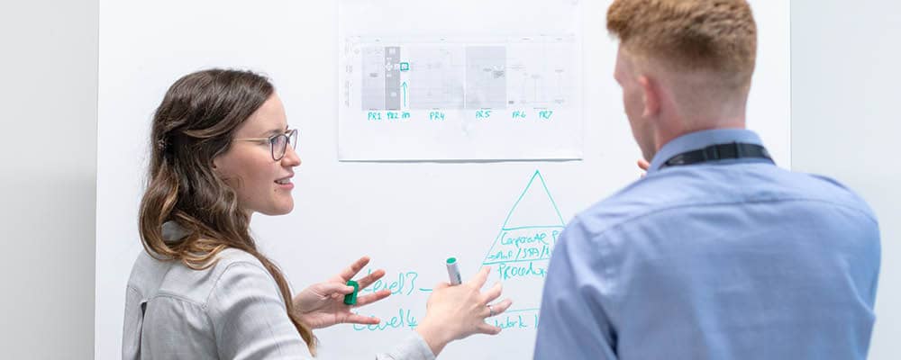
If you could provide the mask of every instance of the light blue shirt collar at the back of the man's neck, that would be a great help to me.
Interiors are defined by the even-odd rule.
[[[663,163],[669,160],[670,157],[675,157],[686,151],[729,142],[743,142],[763,146],[760,136],[754,131],[746,129],[714,129],[690,132],[663,145],[660,151],[657,152],[657,155],[654,155],[654,158],[651,160],[648,174],[660,171],[660,166],[663,166]]]

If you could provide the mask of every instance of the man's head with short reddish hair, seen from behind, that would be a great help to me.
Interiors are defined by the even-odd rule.
[[[757,55],[745,0],[615,0],[614,77],[643,156],[696,130],[744,127]]]

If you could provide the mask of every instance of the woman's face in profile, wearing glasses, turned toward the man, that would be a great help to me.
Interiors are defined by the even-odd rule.
[[[291,178],[294,167],[300,165],[300,157],[288,145],[285,156],[276,161],[265,140],[286,132],[285,108],[278,95],[272,94],[234,135],[234,139],[264,140],[232,140],[231,148],[213,160],[216,172],[232,186],[238,194],[238,205],[248,214],[283,215],[294,209]]]

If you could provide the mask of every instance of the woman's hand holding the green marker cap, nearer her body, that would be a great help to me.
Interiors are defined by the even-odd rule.
[[[353,293],[353,287],[347,285],[348,280],[359,273],[364,266],[369,264],[369,257],[360,257],[359,260],[334,275],[323,283],[313,284],[294,296],[294,307],[300,320],[306,326],[313,329],[327,328],[335,324],[378,324],[378,318],[367,317],[350,312],[350,309],[368,305],[385,299],[391,292],[380,290],[365,296],[359,296],[357,303],[347,305],[344,303],[344,295]],[[385,270],[378,269],[372,274],[357,280],[359,291],[375,283],[385,275]]]

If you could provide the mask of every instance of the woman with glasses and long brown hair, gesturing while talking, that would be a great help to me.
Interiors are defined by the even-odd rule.
[[[145,252],[125,304],[123,358],[268,359],[315,355],[312,329],[378,323],[343,304],[346,285],[369,258],[292,296],[284,275],[250,236],[254,212],[294,208],[297,131],[268,80],[212,69],[172,85],[153,118],[150,183],[141,201]],[[378,359],[431,359],[455,339],[497,334],[485,322],[509,300],[480,293],[483,268],[458,286],[438,284],[414,334]],[[385,272],[359,279],[361,287]],[[382,290],[359,298],[378,302]]]

